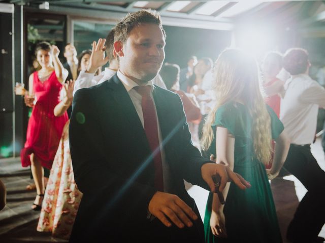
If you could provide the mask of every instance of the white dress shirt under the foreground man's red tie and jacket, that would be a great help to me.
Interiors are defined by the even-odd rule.
[[[119,70],[117,71],[117,77],[121,80],[125,90],[127,91],[128,95],[130,96],[132,103],[138,113],[139,119],[141,121],[142,127],[144,128],[144,119],[143,119],[143,111],[142,111],[142,96],[134,89],[134,87],[139,86],[136,82],[134,82],[132,79],[126,77],[123,73],[121,73]],[[154,86],[153,86],[153,79],[150,80],[147,83],[147,86],[151,87],[151,91],[153,91]],[[154,103],[153,97],[151,95],[152,101]],[[154,105],[154,107],[156,107]],[[156,111],[157,114],[157,111]],[[168,192],[169,191],[169,184],[170,184],[170,168],[168,163],[166,163],[166,159],[165,159],[165,151],[163,149],[163,147],[161,146],[161,144],[163,144],[162,141],[162,136],[161,136],[161,131],[160,131],[160,126],[159,126],[159,120],[158,117],[157,118],[157,125],[158,125],[158,139],[159,139],[159,144],[160,144],[160,154],[161,154],[161,160],[162,160],[162,164],[163,164],[163,177],[164,177],[164,191]]]

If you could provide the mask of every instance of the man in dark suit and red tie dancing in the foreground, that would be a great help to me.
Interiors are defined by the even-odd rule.
[[[215,190],[249,184],[192,146],[180,97],[152,84],[165,58],[156,12],[127,15],[115,28],[119,70],[74,96],[70,143],[83,192],[70,242],[204,242],[184,179]],[[100,49],[100,46],[98,47]]]

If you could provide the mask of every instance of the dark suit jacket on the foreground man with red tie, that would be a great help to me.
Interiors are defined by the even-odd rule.
[[[190,142],[179,96],[155,86],[153,97],[170,166],[170,193],[199,216],[183,179],[209,189],[201,177],[201,166],[209,160]],[[201,219],[186,229],[147,219],[156,192],[154,164],[139,116],[116,74],[75,94],[69,138],[75,181],[83,193],[71,242],[204,241]]]

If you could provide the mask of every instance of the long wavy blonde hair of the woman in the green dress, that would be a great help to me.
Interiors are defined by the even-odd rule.
[[[214,134],[211,125],[218,108],[228,101],[240,101],[248,107],[253,118],[252,138],[259,161],[268,164],[271,158],[271,119],[260,89],[258,69],[254,58],[237,49],[226,49],[214,66],[216,103],[206,118],[201,139],[207,150]]]

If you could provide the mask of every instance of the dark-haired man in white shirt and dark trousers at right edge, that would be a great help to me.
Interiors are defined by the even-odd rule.
[[[322,242],[318,233],[325,223],[325,172],[310,151],[317,124],[318,107],[325,107],[325,90],[309,75],[308,53],[289,49],[283,66],[291,77],[284,85],[280,120],[291,139],[284,168],[297,177],[308,192],[287,230],[293,242]]]

